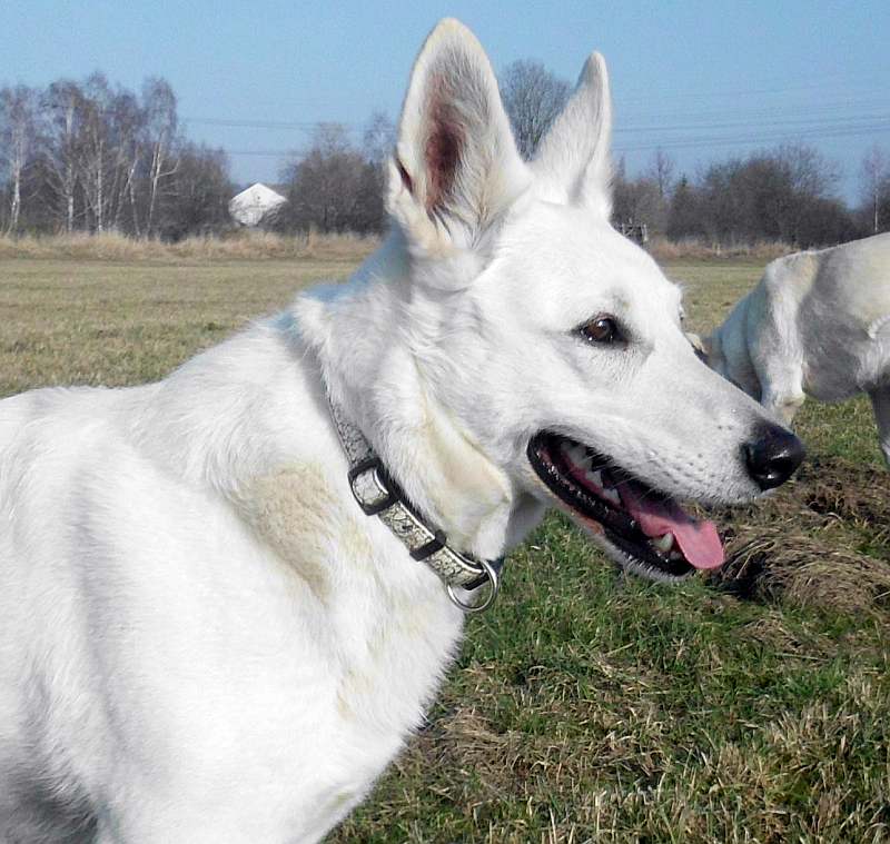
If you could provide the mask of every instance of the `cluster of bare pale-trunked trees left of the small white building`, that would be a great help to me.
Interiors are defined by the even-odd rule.
[[[0,88],[0,231],[177,239],[226,225],[230,196],[227,157],[184,136],[164,79]]]

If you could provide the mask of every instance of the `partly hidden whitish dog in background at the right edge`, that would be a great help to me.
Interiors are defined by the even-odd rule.
[[[868,393],[890,464],[890,234],[772,261],[703,346],[718,373],[785,424],[804,394]]]

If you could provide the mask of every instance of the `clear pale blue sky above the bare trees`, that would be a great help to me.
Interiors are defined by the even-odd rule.
[[[444,16],[476,32],[495,69],[532,58],[574,81],[600,50],[615,148],[632,173],[659,146],[693,173],[803,140],[840,165],[841,191],[854,199],[866,150],[890,152],[887,0],[3,0],[0,83],[99,69],[138,90],[164,76],[191,138],[229,150],[238,181],[274,181],[316,121],[346,123],[358,139],[372,111],[395,118],[414,56]]]

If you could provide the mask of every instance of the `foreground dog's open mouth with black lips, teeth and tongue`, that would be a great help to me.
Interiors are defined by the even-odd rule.
[[[712,522],[694,519],[605,455],[557,434],[537,434],[528,459],[564,509],[606,540],[625,568],[656,580],[679,580],[723,564]]]

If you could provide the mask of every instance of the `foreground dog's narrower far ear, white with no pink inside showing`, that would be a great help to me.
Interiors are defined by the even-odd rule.
[[[612,214],[612,98],[605,59],[593,53],[532,162],[543,196]]]

